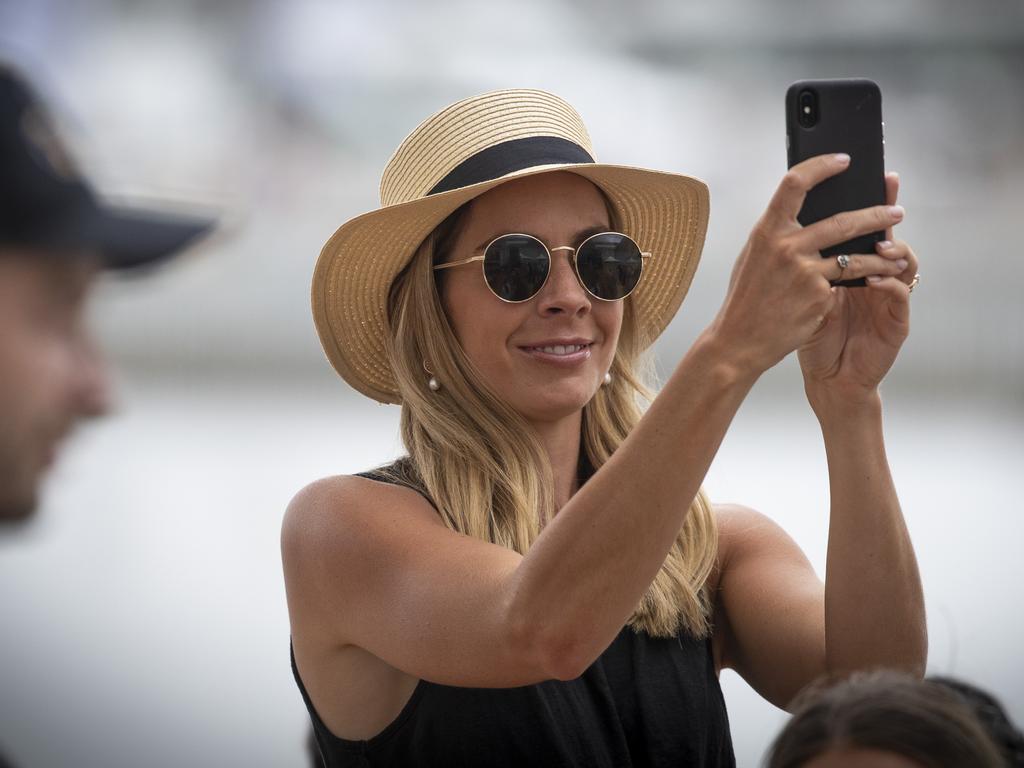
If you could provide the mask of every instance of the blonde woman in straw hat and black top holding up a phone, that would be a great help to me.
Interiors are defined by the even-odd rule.
[[[543,91],[460,101],[402,142],[382,208],[325,246],[313,315],[345,380],[401,403],[409,456],[312,483],[283,530],[293,665],[328,765],[729,765],[724,667],[779,707],[825,672],[922,672],[878,393],[916,259],[891,231],[845,267],[819,256],[891,229],[896,207],[796,220],[848,162],[784,176],[721,311],[641,414],[641,353],[693,275],[706,185],[595,163]],[[841,273],[879,279],[834,290]],[[768,518],[700,487],[794,349],[828,455],[827,588]]]

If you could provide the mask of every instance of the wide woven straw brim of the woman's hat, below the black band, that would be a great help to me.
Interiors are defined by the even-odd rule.
[[[643,338],[653,342],[679,309],[700,260],[708,229],[707,184],[628,166],[546,166],[387,206],[347,221],[334,233],[316,261],[311,298],[321,343],[342,378],[375,400],[400,402],[387,353],[392,281],[459,206],[512,178],[553,171],[571,171],[600,187],[622,229],[652,254],[626,301],[635,306]]]

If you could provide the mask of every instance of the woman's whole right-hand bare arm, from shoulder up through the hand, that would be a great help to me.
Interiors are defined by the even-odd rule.
[[[888,176],[886,188],[895,204],[898,177]],[[925,670],[921,577],[886,460],[878,392],[909,332],[918,259],[891,226],[886,239],[880,251],[896,270],[872,270],[888,276],[865,288],[833,289],[824,322],[799,350],[828,461],[824,586],[796,544],[753,510],[733,510],[723,524],[724,664],[779,707],[824,672]]]

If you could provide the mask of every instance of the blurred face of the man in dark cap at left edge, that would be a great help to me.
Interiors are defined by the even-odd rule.
[[[84,254],[0,250],[0,521],[32,514],[61,440],[106,410],[84,316],[95,272]]]

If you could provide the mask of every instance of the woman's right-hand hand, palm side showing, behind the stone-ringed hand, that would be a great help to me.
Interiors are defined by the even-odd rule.
[[[899,176],[886,174],[888,205],[896,203]],[[888,247],[886,247],[888,246]],[[910,292],[918,257],[893,240],[892,227],[877,253],[906,267],[857,288],[833,288],[834,301],[821,327],[798,350],[804,388],[812,407],[831,400],[848,404],[877,396],[878,386],[910,331]]]

